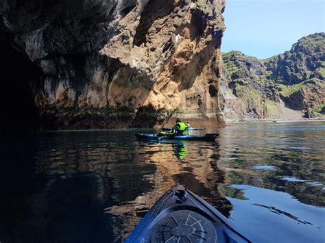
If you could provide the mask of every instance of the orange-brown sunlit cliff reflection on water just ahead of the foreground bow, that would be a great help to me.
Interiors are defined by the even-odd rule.
[[[232,206],[218,192],[219,183],[224,183],[224,172],[217,168],[219,149],[217,142],[137,142],[136,151],[144,164],[154,165],[152,175],[143,179],[149,181],[152,190],[139,194],[133,201],[108,207],[112,215],[115,235],[127,236],[152,205],[176,182],[189,187],[193,192],[208,199],[226,215]],[[186,154],[184,153],[186,151]],[[119,223],[117,223],[119,222]]]

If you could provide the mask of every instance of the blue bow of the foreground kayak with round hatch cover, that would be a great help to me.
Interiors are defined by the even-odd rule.
[[[125,242],[250,242],[217,209],[176,184]]]

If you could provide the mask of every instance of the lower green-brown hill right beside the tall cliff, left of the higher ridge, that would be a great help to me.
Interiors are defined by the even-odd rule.
[[[264,64],[240,51],[223,54],[221,109],[228,119],[274,118],[280,101]]]

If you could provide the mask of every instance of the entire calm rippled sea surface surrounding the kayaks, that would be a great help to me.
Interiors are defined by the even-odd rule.
[[[121,242],[175,182],[253,242],[325,242],[325,123],[242,123],[216,142],[143,142],[154,129],[1,142],[0,242]]]

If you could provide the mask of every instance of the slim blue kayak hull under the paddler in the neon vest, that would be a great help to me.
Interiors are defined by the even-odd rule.
[[[136,138],[145,140],[194,140],[194,141],[214,141],[219,136],[218,133],[206,133],[206,135],[182,135],[182,136],[162,136],[153,133],[136,133]]]

